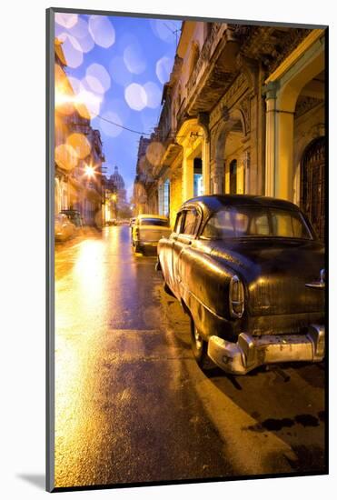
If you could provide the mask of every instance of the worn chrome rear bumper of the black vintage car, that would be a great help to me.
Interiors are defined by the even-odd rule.
[[[305,335],[263,335],[242,333],[236,344],[212,335],[208,355],[215,365],[234,375],[245,375],[256,366],[288,361],[322,361],[325,327],[310,325]]]

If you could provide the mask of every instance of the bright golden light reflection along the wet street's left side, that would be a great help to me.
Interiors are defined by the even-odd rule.
[[[58,261],[73,265],[64,271]],[[55,485],[94,485],[104,482],[114,448],[104,369],[116,355],[110,327],[130,325],[137,302],[129,227],[106,227],[101,237],[58,248],[55,264]]]

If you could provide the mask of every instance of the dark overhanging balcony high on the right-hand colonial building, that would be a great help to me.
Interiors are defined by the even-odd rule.
[[[216,105],[237,74],[238,52],[233,27],[213,23],[186,85],[188,115],[209,112]]]

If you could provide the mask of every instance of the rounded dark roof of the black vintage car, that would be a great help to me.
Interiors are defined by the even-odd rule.
[[[188,205],[201,205],[214,212],[223,206],[273,206],[286,210],[299,211],[300,208],[287,200],[261,195],[204,195],[184,202],[182,209]]]

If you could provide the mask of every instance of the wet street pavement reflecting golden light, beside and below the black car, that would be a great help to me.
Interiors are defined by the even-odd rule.
[[[126,225],[56,245],[56,487],[323,472],[323,365],[203,374],[154,264]]]

